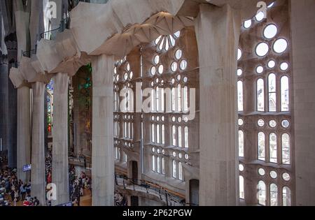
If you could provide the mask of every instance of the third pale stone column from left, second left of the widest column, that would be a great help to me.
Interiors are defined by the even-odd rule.
[[[54,123],[52,128],[52,183],[57,186],[57,200],[52,205],[69,202],[68,161],[68,87],[69,75],[54,76]]]

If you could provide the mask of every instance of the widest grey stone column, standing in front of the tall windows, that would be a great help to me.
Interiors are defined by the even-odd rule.
[[[200,205],[237,205],[237,46],[233,9],[200,5]]]

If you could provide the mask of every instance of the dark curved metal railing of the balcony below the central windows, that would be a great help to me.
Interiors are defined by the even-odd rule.
[[[126,175],[115,174],[115,182],[118,187],[121,185],[118,183],[118,179],[123,180],[123,189],[127,189],[127,186],[131,186],[134,191],[136,191],[136,189],[142,189],[148,194],[160,196],[160,200],[164,200],[167,206],[197,206],[192,203],[186,203],[183,196],[179,196],[179,194],[169,191],[158,184],[143,179],[131,179]]]

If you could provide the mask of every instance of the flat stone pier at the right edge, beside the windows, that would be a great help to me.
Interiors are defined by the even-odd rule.
[[[294,108],[292,159],[296,186],[296,191],[290,189],[291,200],[292,205],[315,205],[315,2],[301,0],[290,4],[294,105],[292,99],[290,103]]]

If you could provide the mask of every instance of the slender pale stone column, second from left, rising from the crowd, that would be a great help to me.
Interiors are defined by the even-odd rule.
[[[45,140],[44,140],[44,101],[45,85],[33,85],[33,126],[31,138],[31,196],[37,197],[45,205]]]

